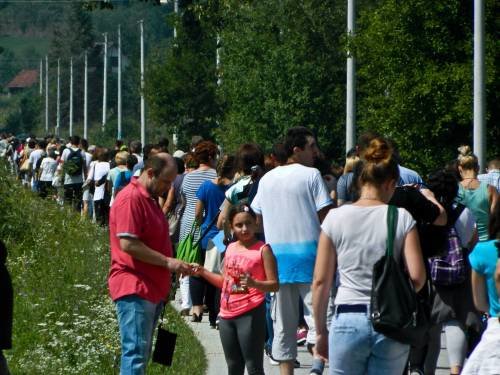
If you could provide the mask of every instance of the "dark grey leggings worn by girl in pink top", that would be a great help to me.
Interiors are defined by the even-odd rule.
[[[228,375],[264,375],[266,304],[233,319],[220,319],[219,334]]]

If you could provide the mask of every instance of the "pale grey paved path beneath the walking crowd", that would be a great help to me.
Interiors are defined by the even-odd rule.
[[[180,306],[178,304],[177,296],[174,301],[172,301],[172,306],[179,310]],[[222,351],[222,345],[219,338],[219,331],[210,328],[208,324],[208,315],[203,316],[201,323],[191,323],[190,317],[185,318],[186,323],[191,327],[195,333],[198,340],[201,342],[205,349],[207,355],[208,367],[207,373],[205,375],[224,375],[227,374],[226,361],[224,359],[224,352]],[[444,337],[442,339],[442,346],[446,342]],[[300,362],[300,368],[295,369],[296,375],[309,375],[309,370],[311,369],[312,357],[307,351],[305,346],[298,347],[298,357],[297,360]],[[266,375],[279,375],[279,366],[271,366],[267,357],[264,355],[264,371]],[[438,368],[436,370],[436,375],[449,375],[450,370],[448,368],[448,356],[446,349],[441,348],[441,354],[439,355]],[[328,374],[328,370],[325,369],[324,374]],[[193,374],[198,375],[198,374]],[[203,374],[199,374],[203,375]]]

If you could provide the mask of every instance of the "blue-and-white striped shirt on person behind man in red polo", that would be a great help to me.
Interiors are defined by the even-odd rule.
[[[213,180],[216,177],[217,172],[215,169],[196,170],[184,176],[184,180],[181,185],[181,194],[184,197],[186,206],[181,218],[179,241],[182,241],[187,237],[193,225],[196,201],[198,199],[196,198],[196,192],[203,182]],[[199,236],[200,233],[198,230],[197,233],[195,233],[195,241],[199,238]]]

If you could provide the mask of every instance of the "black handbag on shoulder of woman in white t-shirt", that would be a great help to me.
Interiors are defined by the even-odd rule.
[[[386,253],[373,266],[371,320],[375,331],[419,347],[427,341],[428,311],[401,264],[394,259],[397,218],[397,207],[389,205]]]

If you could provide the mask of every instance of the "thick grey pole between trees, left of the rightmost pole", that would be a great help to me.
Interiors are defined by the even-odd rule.
[[[356,0],[347,0],[347,35],[353,36],[356,29]],[[356,60],[347,51],[346,87],[346,152],[356,144]]]

